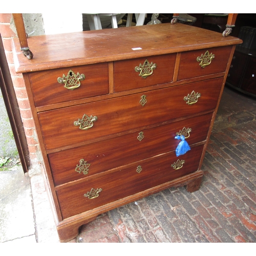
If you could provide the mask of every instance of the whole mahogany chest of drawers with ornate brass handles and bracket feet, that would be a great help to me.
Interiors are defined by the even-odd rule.
[[[240,39],[183,24],[34,36],[31,60],[13,42],[61,242],[115,207],[199,189]]]

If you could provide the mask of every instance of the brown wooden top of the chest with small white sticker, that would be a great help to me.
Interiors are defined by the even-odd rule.
[[[157,29],[156,29],[157,26]],[[42,35],[28,38],[34,58],[13,39],[18,73],[87,65],[144,56],[240,44],[242,40],[184,24],[158,24],[118,29]],[[16,52],[16,53],[15,53]]]

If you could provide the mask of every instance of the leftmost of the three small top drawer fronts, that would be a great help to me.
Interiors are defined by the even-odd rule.
[[[73,71],[73,73],[71,71]],[[79,73],[79,75],[83,74],[85,78],[79,80],[80,76],[77,76],[77,73]],[[63,78],[63,75],[65,78]],[[109,93],[108,63],[38,71],[30,73],[29,76],[36,106]],[[59,83],[58,78],[65,79],[67,85],[63,81]]]

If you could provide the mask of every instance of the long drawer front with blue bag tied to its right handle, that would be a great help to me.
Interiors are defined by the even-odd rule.
[[[74,181],[90,175],[124,166],[175,150],[179,140],[176,133],[187,133],[189,145],[206,139],[212,113],[188,118],[140,133],[92,143],[48,155],[55,185]]]

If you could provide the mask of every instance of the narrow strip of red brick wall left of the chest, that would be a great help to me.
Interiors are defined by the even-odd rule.
[[[28,148],[30,152],[31,163],[37,163],[40,157],[38,139],[35,131],[35,124],[32,117],[27,91],[22,74],[18,74],[14,69],[14,60],[11,47],[11,40],[16,34],[10,28],[12,14],[0,13],[0,34],[2,36],[6,58],[15,90],[16,98],[19,105],[20,116],[22,117],[24,131],[26,134]]]

